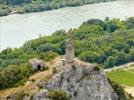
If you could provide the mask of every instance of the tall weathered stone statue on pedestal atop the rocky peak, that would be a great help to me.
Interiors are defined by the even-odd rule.
[[[74,62],[74,48],[72,44],[72,29],[70,29],[67,33],[67,39],[66,39],[66,47],[65,47],[65,61],[66,63],[70,64]]]

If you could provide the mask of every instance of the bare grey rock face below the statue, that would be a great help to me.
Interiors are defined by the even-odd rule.
[[[93,65],[78,59],[63,66],[61,71],[35,94],[33,100],[49,100],[47,93],[53,89],[67,91],[71,95],[71,100],[118,100],[104,71],[95,70]]]

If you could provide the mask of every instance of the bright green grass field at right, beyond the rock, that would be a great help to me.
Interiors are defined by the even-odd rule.
[[[134,86],[134,73],[128,70],[114,70],[106,73],[112,80],[121,85]]]

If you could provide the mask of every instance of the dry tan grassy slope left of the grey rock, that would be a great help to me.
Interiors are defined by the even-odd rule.
[[[57,57],[54,60],[50,61],[46,65],[48,66],[47,70],[36,72],[32,75],[30,75],[26,82],[23,84],[20,84],[17,87],[14,88],[7,88],[0,90],[0,100],[6,100],[6,97],[10,95],[15,95],[16,93],[19,95],[21,93],[27,94],[27,93],[35,93],[40,89],[40,84],[45,83],[45,81],[48,81],[53,76],[53,68],[59,67],[59,63],[61,62],[61,59],[63,57]],[[21,96],[20,96],[21,97]]]

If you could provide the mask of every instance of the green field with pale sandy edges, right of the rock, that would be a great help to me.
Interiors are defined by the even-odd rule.
[[[134,65],[119,70],[113,70],[106,74],[112,81],[124,86],[124,90],[134,97]]]

